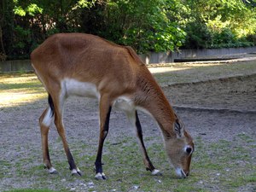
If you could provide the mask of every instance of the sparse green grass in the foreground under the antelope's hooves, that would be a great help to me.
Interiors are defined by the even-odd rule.
[[[240,139],[240,137],[241,135],[237,135],[236,139]],[[247,137],[247,140],[253,139],[248,135],[243,137]],[[86,151],[86,148],[90,148],[90,146],[84,147],[77,150],[82,153],[82,151]],[[29,178],[33,176],[36,178],[36,183],[33,184],[32,189],[54,186],[57,191],[70,190],[72,183],[84,183],[88,191],[178,192],[212,191],[212,189],[213,191],[237,191],[237,189],[242,189],[247,185],[255,184],[256,174],[253,170],[256,169],[256,166],[249,150],[243,148],[243,143],[225,140],[220,140],[218,143],[204,143],[201,137],[198,137],[195,138],[195,147],[191,175],[186,179],[179,179],[175,176],[161,143],[154,143],[149,146],[148,154],[154,162],[154,166],[163,172],[163,176],[151,176],[150,172],[146,172],[144,169],[137,141],[133,137],[125,138],[124,142],[114,145],[111,142],[106,143],[106,150],[103,155],[103,168],[108,176],[106,181],[96,181],[93,178],[95,174],[93,163],[96,154],[74,155],[79,168],[84,172],[82,177],[71,176],[65,158],[54,162],[55,168],[59,171],[57,175],[49,175],[41,165],[32,166],[28,169],[22,166],[29,159],[17,164],[15,169],[18,177]],[[9,166],[7,162],[3,163]],[[93,187],[89,188],[88,183],[93,183]],[[76,189],[83,189],[81,186],[76,187]],[[32,189],[25,189],[24,191],[34,191]]]

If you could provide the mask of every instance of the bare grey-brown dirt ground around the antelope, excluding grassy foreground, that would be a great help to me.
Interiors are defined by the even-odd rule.
[[[256,137],[256,74],[194,84],[173,84],[163,87],[163,90],[192,137],[201,137],[206,143],[217,143],[220,139],[232,141],[239,133]],[[0,177],[0,191],[11,187],[32,186],[31,180],[24,181],[15,174],[14,165],[30,155],[31,161],[25,167],[41,163],[38,117],[46,105],[46,101],[38,101],[0,109],[0,160],[9,164],[0,168],[2,176],[8,176]],[[160,131],[153,120],[148,120],[148,115],[139,113],[139,116],[145,137],[160,136]],[[124,119],[123,113],[113,112],[108,135],[110,143],[116,143],[124,135],[133,136]],[[68,99],[64,122],[69,143],[81,142],[96,146],[96,101],[79,97]],[[90,130],[86,127],[90,127]],[[51,129],[49,140],[55,141],[56,137],[55,129]],[[55,145],[55,148],[59,147],[60,142]],[[95,150],[87,153],[95,154]],[[63,158],[63,155],[53,158]],[[252,158],[256,160],[255,150]],[[251,189],[256,189],[256,186]]]

